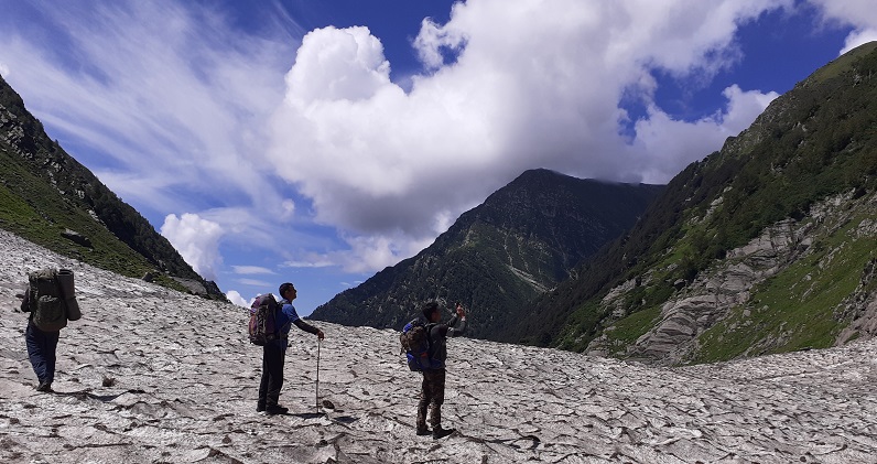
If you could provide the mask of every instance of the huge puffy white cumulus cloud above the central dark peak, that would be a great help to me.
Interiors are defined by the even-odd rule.
[[[368,29],[318,29],[286,74],[269,158],[344,231],[349,262],[392,263],[524,170],[663,183],[717,150],[775,95],[732,87],[715,117],[673,120],[650,73],[708,80],[739,61],[740,24],[792,6],[472,0],[422,23],[409,91]],[[631,91],[650,108],[632,139]]]

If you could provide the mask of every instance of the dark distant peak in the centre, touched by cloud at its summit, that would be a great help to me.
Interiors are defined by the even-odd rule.
[[[470,335],[495,337],[527,302],[630,228],[661,188],[524,172],[418,256],[338,294],[312,317],[401,328],[424,301],[459,301],[472,310]]]

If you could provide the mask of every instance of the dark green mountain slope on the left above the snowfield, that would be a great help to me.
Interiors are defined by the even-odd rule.
[[[129,277],[224,299],[134,208],[43,130],[0,77],[0,227]]]

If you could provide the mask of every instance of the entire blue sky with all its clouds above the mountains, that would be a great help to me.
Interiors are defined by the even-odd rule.
[[[0,0],[0,74],[232,301],[310,314],[528,169],[668,182],[869,3]]]

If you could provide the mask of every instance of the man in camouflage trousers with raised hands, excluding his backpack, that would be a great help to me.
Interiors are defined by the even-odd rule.
[[[421,309],[429,342],[429,363],[422,369],[423,382],[421,384],[420,402],[418,403],[418,435],[429,435],[442,439],[456,429],[442,428],[442,403],[445,400],[445,360],[447,359],[447,337],[463,335],[466,331],[466,312],[457,303],[456,314],[447,323],[442,324],[442,312],[438,303],[431,301]],[[459,326],[455,325],[459,322]],[[426,411],[430,413],[432,432],[426,428]]]

